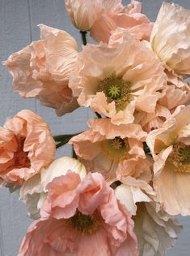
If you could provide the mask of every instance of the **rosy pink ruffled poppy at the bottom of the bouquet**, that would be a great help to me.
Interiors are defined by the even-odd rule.
[[[28,229],[18,256],[137,256],[133,221],[99,173],[81,180],[68,171],[47,189],[41,219]]]

